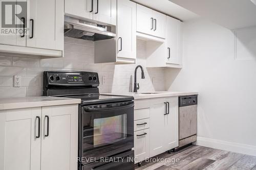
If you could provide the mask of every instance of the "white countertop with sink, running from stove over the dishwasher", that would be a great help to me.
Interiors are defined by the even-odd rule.
[[[124,93],[101,93],[103,95],[120,95],[120,96],[133,96],[134,100],[139,99],[151,99],[151,98],[164,98],[172,96],[184,96],[184,95],[198,95],[198,92],[179,92],[179,91],[152,91],[148,93],[153,94],[142,94],[140,92],[124,92]]]

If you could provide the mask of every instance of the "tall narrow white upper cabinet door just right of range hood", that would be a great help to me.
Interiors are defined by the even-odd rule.
[[[136,58],[136,4],[129,0],[117,2],[117,56]]]

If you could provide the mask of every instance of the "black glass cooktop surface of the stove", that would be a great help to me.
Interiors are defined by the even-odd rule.
[[[116,95],[100,95],[100,94],[88,94],[88,95],[73,95],[68,98],[81,99],[83,105],[94,105],[102,103],[115,103],[134,100],[133,96],[116,96]]]

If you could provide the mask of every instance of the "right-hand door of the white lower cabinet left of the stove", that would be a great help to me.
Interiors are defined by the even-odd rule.
[[[42,107],[41,170],[77,169],[78,105]]]

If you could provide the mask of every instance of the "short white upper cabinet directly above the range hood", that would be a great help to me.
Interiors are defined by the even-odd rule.
[[[65,14],[116,25],[116,0],[65,0]]]

